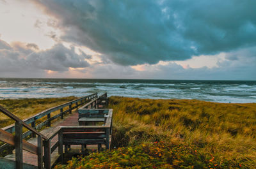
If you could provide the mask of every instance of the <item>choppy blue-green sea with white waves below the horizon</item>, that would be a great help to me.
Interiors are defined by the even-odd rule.
[[[108,96],[256,103],[256,81],[0,78],[0,99]]]

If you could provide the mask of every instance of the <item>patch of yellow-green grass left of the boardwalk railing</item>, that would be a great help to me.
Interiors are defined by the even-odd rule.
[[[0,100],[0,105],[13,114],[17,115],[20,119],[27,119],[32,115],[38,114],[39,112],[61,105],[76,99],[76,97],[67,97],[67,98],[47,98],[47,99],[3,99]],[[12,121],[9,117],[0,112],[0,128],[12,124]]]

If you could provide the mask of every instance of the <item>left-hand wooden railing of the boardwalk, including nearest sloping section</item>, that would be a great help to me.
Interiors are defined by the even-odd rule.
[[[79,105],[82,105],[87,101],[90,101],[93,99],[97,99],[97,93],[90,94],[89,96],[85,96],[83,98],[79,98],[74,101],[70,101],[68,103],[64,103],[54,108],[49,108],[24,121],[20,120],[17,116],[13,115],[11,112],[9,112],[8,110],[0,106],[0,112],[2,112],[3,114],[7,115],[8,117],[10,117],[15,121],[14,125],[0,129],[0,141],[8,143],[9,145],[15,146],[16,168],[20,169],[23,166],[22,149],[29,151],[33,154],[36,154],[38,156],[38,168],[43,168],[43,158],[44,158],[44,164],[45,164],[44,167],[51,168],[51,161],[47,161],[47,160],[49,159],[51,160],[51,152],[52,152],[52,149],[54,149],[54,147],[59,147],[59,152],[61,152],[61,150],[63,149],[63,148],[61,149],[61,146],[60,146],[61,142],[54,144],[53,147],[51,147],[52,137],[42,135],[42,133],[40,133],[36,129],[40,129],[43,126],[51,126],[52,120],[58,117],[61,117],[61,119],[63,119],[63,114],[67,112],[71,113],[74,108],[78,108]],[[76,104],[76,105],[72,107],[73,104]],[[65,107],[68,107],[68,109],[63,111],[63,108]],[[60,110],[60,114],[57,114],[51,117],[51,113],[57,110]],[[45,117],[45,116],[47,116],[47,120],[36,125],[36,120],[41,119],[42,117]],[[29,126],[29,124],[31,124],[31,126]],[[23,127],[28,129],[26,133],[22,133]],[[12,135],[12,133],[14,132],[15,132],[15,136]],[[38,136],[37,146],[27,142],[26,140],[23,140],[23,138],[26,138],[29,135]],[[59,140],[61,139],[59,138]],[[0,151],[3,151],[4,149],[6,149],[6,147],[7,147],[7,144],[2,145],[0,147]],[[43,148],[44,148],[44,156],[43,156]],[[60,154],[63,154],[63,153],[60,153]]]

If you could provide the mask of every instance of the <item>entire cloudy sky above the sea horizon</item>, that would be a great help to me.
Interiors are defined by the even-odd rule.
[[[255,0],[0,0],[0,77],[256,80]]]

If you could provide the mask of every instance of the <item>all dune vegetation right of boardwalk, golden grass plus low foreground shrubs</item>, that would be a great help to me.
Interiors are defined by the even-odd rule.
[[[122,97],[109,103],[113,149],[56,168],[256,168],[256,103]]]

